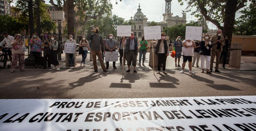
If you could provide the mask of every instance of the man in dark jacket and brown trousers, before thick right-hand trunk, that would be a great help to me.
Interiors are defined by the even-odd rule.
[[[220,63],[220,54],[222,51],[222,46],[225,45],[225,39],[223,35],[221,35],[222,30],[217,30],[217,33],[211,37],[212,48],[211,48],[211,64],[210,70],[213,71],[213,62],[216,56],[216,65],[215,65],[215,72],[219,72],[219,63]]]

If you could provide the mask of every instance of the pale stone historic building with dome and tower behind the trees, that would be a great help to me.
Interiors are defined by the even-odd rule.
[[[186,14],[183,12],[183,16],[179,17],[178,15],[173,16],[171,13],[171,0],[165,0],[165,13],[163,14],[163,21],[157,22],[157,25],[161,26],[161,31],[165,29],[165,27],[171,27],[173,25],[178,24],[186,24]],[[141,39],[144,36],[144,26],[149,26],[150,22],[148,22],[148,18],[141,12],[141,8],[137,9],[134,17],[131,17],[135,25],[132,25],[131,31],[134,32],[134,36],[138,39]]]

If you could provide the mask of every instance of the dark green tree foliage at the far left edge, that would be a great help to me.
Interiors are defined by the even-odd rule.
[[[0,15],[1,28],[0,32],[8,32],[14,36],[16,33],[22,32],[28,24],[22,23],[18,18],[10,17],[9,15]]]

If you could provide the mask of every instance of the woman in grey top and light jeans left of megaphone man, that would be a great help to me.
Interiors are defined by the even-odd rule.
[[[82,61],[80,63],[80,66],[85,66],[85,59],[87,57],[88,47],[89,47],[89,42],[85,39],[85,35],[83,36],[82,40],[79,42],[79,47],[83,48]]]

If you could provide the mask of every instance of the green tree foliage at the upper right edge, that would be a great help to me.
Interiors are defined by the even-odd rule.
[[[249,7],[240,11],[242,14],[234,28],[234,34],[236,35],[256,35],[256,4],[251,3]]]

